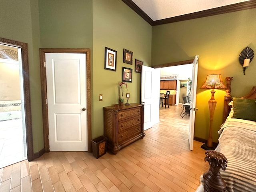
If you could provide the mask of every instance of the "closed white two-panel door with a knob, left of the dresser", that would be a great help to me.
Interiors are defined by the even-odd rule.
[[[88,151],[86,54],[46,53],[50,151]]]

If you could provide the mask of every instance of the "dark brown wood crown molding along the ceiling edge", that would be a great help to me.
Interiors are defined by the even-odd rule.
[[[134,4],[134,2],[132,2],[132,0],[122,0],[122,1],[125,4],[127,4],[130,8],[132,8],[132,10],[134,10],[137,14],[139,14],[151,26],[256,8],[256,1],[251,0],[251,1],[236,3],[236,4],[232,4],[232,5],[222,6],[222,7],[218,7],[218,8],[212,8],[212,9],[199,11],[199,12],[195,12],[195,13],[190,13],[190,14],[185,14],[185,15],[181,15],[181,16],[176,16],[176,17],[153,21],[145,12],[143,12],[136,4]]]

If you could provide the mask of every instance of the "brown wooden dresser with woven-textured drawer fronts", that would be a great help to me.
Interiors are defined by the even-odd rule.
[[[104,107],[104,136],[108,138],[108,149],[114,154],[128,144],[143,138],[144,105]]]

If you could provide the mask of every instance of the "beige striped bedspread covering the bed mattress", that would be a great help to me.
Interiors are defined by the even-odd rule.
[[[228,159],[226,170],[220,170],[227,191],[256,192],[256,122],[228,118],[218,133],[215,150]],[[198,187],[197,192],[203,191]]]

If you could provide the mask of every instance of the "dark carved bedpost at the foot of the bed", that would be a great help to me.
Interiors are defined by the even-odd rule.
[[[208,161],[210,168],[203,174],[204,192],[224,192],[226,183],[220,176],[220,168],[226,170],[228,160],[219,152],[208,150],[205,152],[204,161]]]

